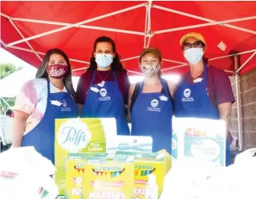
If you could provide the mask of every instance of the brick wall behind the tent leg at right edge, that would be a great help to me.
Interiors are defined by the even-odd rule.
[[[235,79],[230,78],[235,97]],[[256,69],[242,75],[239,79],[241,87],[242,133],[244,149],[256,147]],[[230,132],[238,137],[238,106],[233,104],[231,113]],[[235,148],[235,140],[231,149]]]

